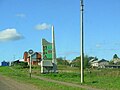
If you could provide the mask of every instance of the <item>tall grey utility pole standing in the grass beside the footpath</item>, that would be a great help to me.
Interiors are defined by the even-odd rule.
[[[81,83],[84,82],[84,33],[83,33],[83,0],[81,0]]]

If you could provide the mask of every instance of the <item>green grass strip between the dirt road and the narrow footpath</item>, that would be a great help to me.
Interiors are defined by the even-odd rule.
[[[43,80],[35,79],[35,78],[29,78],[28,74],[25,73],[25,70],[17,69],[15,70],[10,69],[9,67],[0,67],[0,73],[4,76],[10,77],[12,79],[15,79],[19,82],[25,83],[25,84],[33,84],[38,87],[40,90],[84,90],[81,88],[76,87],[70,87],[65,85],[60,85],[52,82],[46,82]]]

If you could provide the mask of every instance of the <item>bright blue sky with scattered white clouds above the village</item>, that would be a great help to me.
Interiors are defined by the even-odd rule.
[[[120,0],[84,0],[84,52],[120,57]],[[0,61],[41,52],[41,39],[55,29],[57,57],[80,55],[80,0],[0,0]]]

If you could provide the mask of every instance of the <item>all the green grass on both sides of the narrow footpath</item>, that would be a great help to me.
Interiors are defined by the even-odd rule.
[[[48,87],[51,88],[50,90],[83,90],[80,88],[58,85],[56,83],[50,83],[33,78],[30,80],[27,76],[29,69],[14,69],[17,71],[17,73],[14,73],[14,70],[9,69],[8,67],[0,67],[0,73],[25,83],[32,83],[34,85],[37,85],[39,88],[42,87],[42,90],[46,90],[46,88]],[[57,81],[59,80],[80,84],[80,71],[78,68],[59,66],[58,69],[58,74],[40,74],[40,68],[36,67],[32,69],[32,74],[50,79],[55,79]],[[120,69],[91,69],[90,71],[91,72],[85,70],[85,83],[83,85],[103,90],[120,90]]]

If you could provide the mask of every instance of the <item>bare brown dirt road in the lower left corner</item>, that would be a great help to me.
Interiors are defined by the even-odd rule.
[[[0,90],[38,90],[31,84],[23,84],[0,75]]]

